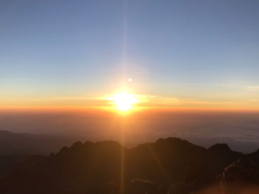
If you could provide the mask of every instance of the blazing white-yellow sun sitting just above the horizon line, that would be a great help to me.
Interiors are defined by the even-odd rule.
[[[134,104],[138,102],[134,94],[126,92],[114,94],[111,100],[113,101],[116,109],[122,112],[132,110]]]

